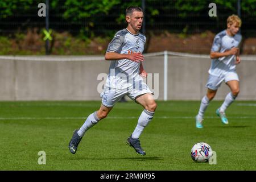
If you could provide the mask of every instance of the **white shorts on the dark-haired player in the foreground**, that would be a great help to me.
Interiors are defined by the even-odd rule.
[[[105,87],[101,93],[102,104],[106,107],[113,107],[123,96],[127,95],[131,100],[135,101],[136,97],[141,96],[145,93],[152,93],[148,88],[147,84],[141,82],[138,88],[130,86],[127,89],[115,89]],[[153,94],[153,93],[152,93]],[[136,101],[135,101],[136,102]]]

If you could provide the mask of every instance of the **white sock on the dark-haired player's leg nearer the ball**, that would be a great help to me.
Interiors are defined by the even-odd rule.
[[[148,123],[153,118],[154,113],[155,112],[151,112],[146,109],[142,111],[141,116],[138,119],[138,124],[135,127],[135,130],[133,131],[131,138],[136,138],[136,139],[139,138],[144,128],[148,125]]]

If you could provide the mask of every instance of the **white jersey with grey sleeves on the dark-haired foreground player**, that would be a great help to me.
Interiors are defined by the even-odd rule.
[[[146,36],[141,33],[137,35],[132,34],[127,28],[124,28],[114,35],[106,52],[121,54],[142,53],[145,43]],[[131,84],[134,84],[134,81],[139,82],[142,80],[142,77],[139,76],[140,64],[129,59],[111,61],[106,86],[109,88],[126,89]]]

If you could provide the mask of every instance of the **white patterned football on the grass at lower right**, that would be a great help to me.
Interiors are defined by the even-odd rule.
[[[195,162],[209,162],[212,156],[212,148],[204,142],[196,143],[191,149],[191,158]]]

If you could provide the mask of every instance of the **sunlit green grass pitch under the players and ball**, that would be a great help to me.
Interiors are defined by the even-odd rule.
[[[73,130],[97,110],[100,101],[0,102],[0,170],[255,170],[256,102],[236,101],[226,111],[224,126],[212,101],[204,129],[196,129],[199,101],[158,101],[154,119],[141,135],[147,155],[137,155],[126,139],[143,108],[134,102],[117,103],[82,139],[72,155],[68,143]],[[217,164],[195,163],[193,144],[208,143]],[[46,165],[39,165],[39,151]]]

